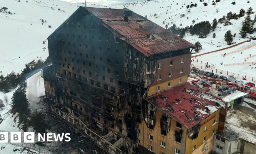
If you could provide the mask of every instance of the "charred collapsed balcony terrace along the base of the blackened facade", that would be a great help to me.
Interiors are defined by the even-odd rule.
[[[127,147],[127,145],[129,146],[126,141],[127,139],[118,136],[113,131],[109,131],[107,127],[98,122],[86,125],[82,121],[82,116],[72,114],[72,111],[69,112],[67,108],[61,107],[60,105],[51,106],[51,109],[57,115],[74,125],[81,134],[85,133],[89,135],[98,146],[108,153],[126,154],[127,148],[131,148]]]

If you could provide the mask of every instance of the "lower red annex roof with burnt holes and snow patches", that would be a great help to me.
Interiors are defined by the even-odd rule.
[[[147,100],[189,129],[220,108],[216,99],[190,83],[151,96]]]

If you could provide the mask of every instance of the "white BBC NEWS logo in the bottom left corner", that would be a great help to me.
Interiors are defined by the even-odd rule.
[[[10,142],[11,143],[21,143],[22,135],[21,132],[10,132]],[[0,132],[0,143],[8,143],[8,132]],[[71,140],[70,133],[38,133],[38,142],[41,141],[65,141],[69,142]],[[24,132],[23,133],[23,143],[34,143],[35,142],[35,132]]]

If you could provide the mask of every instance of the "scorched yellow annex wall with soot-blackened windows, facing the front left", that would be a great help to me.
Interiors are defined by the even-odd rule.
[[[149,145],[152,146],[152,152],[156,154],[160,154],[161,152],[164,154],[174,153],[175,148],[179,149],[181,154],[184,154],[187,128],[184,125],[182,125],[181,128],[176,127],[176,121],[171,119],[170,131],[166,136],[161,135],[160,121],[162,115],[165,115],[165,113],[157,109],[155,113],[156,124],[154,126],[154,130],[149,129],[145,121],[142,120],[142,123],[140,123],[138,127],[140,133],[138,133],[137,142],[146,149],[148,149]],[[183,131],[181,143],[177,143],[175,142],[175,131],[180,131],[181,129]],[[153,137],[153,140],[149,139],[149,135]],[[165,146],[161,146],[161,142],[164,142]]]

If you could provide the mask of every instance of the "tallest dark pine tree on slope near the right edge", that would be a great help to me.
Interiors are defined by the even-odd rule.
[[[253,21],[251,20],[250,15],[247,15],[245,17],[245,20],[242,22],[242,28],[239,30],[240,31],[240,35],[242,36],[242,38],[245,38],[246,34],[252,34],[253,33]]]

